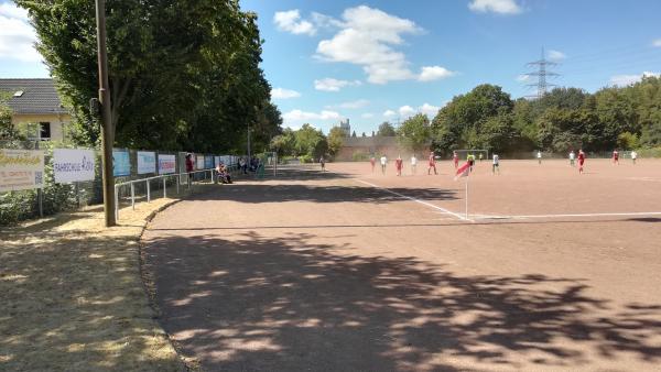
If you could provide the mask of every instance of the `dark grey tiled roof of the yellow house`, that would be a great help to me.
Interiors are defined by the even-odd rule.
[[[14,113],[68,113],[53,79],[0,79],[0,91],[9,92]]]

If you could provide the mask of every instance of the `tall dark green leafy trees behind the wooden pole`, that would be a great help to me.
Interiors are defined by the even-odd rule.
[[[99,141],[95,2],[15,0],[29,11],[36,47],[75,117],[79,144]],[[107,2],[107,44],[116,145],[240,151],[266,147],[281,131],[261,62],[257,15],[238,0]],[[259,149],[258,149],[259,150]]]

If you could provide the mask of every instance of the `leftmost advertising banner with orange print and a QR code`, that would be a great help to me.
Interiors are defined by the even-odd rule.
[[[0,150],[0,192],[43,187],[43,151]]]

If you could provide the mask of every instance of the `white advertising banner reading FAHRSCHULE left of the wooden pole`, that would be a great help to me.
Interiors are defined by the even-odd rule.
[[[93,180],[95,169],[94,151],[85,149],[53,150],[53,176],[57,184]]]

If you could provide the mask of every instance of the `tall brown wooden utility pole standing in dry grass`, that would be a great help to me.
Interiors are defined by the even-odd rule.
[[[115,218],[115,178],[112,175],[112,144],[115,128],[110,110],[110,87],[108,84],[108,51],[106,50],[106,0],[96,0],[97,55],[99,63],[99,103],[101,109],[101,161],[104,212],[106,227],[116,226]]]

